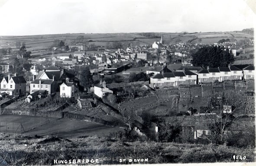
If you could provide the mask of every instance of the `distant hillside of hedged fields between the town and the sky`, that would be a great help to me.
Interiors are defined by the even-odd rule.
[[[27,51],[40,51],[48,49],[54,40],[63,40],[66,45],[75,45],[82,42],[85,45],[104,46],[111,48],[114,42],[122,42],[124,47],[128,45],[152,45],[154,41],[160,41],[163,35],[164,44],[204,43],[213,44],[221,39],[239,41],[253,38],[253,29],[243,29],[235,32],[141,32],[141,33],[97,33],[97,34],[53,34],[31,36],[0,36],[0,48],[16,48],[16,42],[25,43]]]

